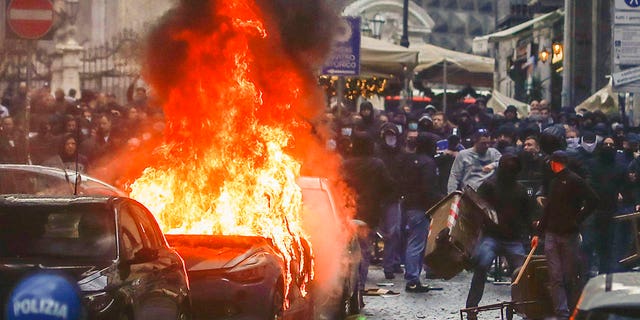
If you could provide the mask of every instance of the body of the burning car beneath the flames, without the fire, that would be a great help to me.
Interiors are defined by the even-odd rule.
[[[285,261],[269,239],[188,234],[166,237],[185,259],[195,319],[311,318],[311,301],[302,292],[302,279],[310,270],[292,272],[294,285],[286,292]],[[310,256],[299,259],[304,258]]]

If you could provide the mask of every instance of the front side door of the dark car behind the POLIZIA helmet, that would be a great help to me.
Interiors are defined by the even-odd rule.
[[[171,319],[175,305],[167,303],[162,292],[162,279],[157,272],[157,248],[145,233],[144,226],[128,202],[118,210],[120,225],[121,269],[127,275],[124,290],[132,300],[135,319]]]

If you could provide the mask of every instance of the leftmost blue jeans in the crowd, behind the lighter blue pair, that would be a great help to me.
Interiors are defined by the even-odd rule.
[[[402,249],[402,213],[400,202],[393,202],[385,208],[382,234],[384,235],[384,258],[382,268],[384,272],[393,273],[401,263]]]

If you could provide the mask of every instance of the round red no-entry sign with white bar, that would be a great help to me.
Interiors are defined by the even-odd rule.
[[[39,39],[53,25],[53,4],[50,0],[11,0],[7,24],[21,38]]]

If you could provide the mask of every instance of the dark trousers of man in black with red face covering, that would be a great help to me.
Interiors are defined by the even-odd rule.
[[[577,301],[582,289],[578,278],[580,240],[578,234],[559,235],[547,232],[544,254],[549,267],[549,291],[556,317],[569,318],[569,304]]]

